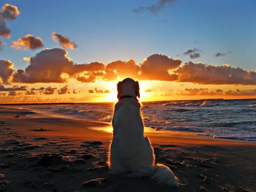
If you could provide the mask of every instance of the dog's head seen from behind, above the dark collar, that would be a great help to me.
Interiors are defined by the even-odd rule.
[[[126,78],[117,83],[117,98],[129,96],[134,98],[140,98],[139,82],[131,78]]]

